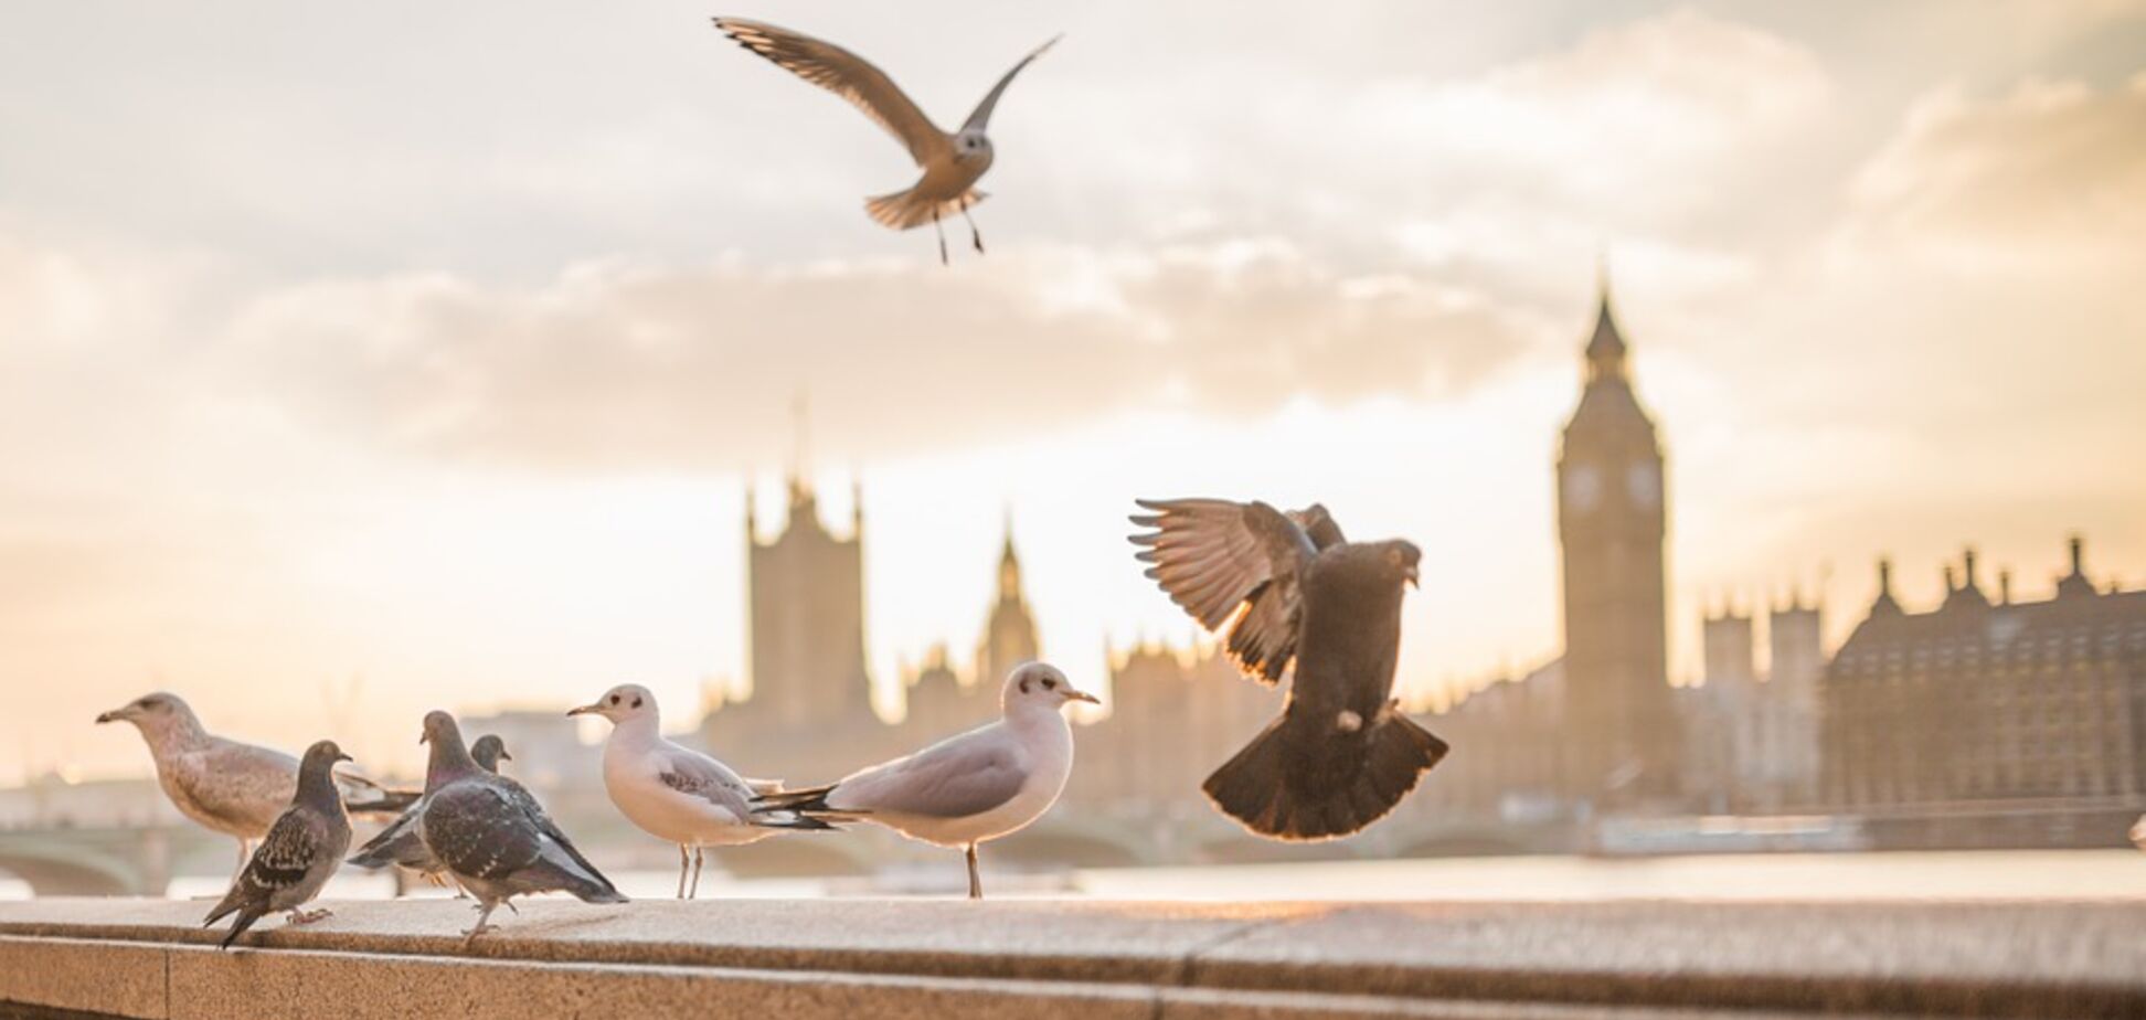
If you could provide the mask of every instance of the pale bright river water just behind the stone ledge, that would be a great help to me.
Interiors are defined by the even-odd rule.
[[[989,850],[985,850],[989,855]],[[961,895],[961,857],[867,878],[732,880],[710,868],[702,898]],[[676,872],[612,874],[635,898],[667,898]],[[2146,853],[1841,853],[1697,857],[1449,857],[1206,868],[1122,868],[1052,874],[985,870],[994,898],[1092,900],[2146,900]],[[174,898],[221,895],[223,878],[187,876]],[[30,889],[0,878],[0,900]],[[386,898],[378,874],[346,870],[328,898]]]

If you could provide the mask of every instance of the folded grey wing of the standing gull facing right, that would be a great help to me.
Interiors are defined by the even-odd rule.
[[[1021,792],[1028,771],[998,730],[972,730],[835,786],[837,810],[966,818]]]

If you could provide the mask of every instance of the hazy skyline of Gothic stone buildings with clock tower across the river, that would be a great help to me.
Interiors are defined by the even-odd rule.
[[[1672,685],[1670,466],[1631,354],[1605,283],[1554,466],[1562,653],[1423,719],[1453,754],[1401,818],[1854,814],[1880,835],[1914,820],[1893,829],[1904,846],[2120,840],[2116,820],[2146,810],[2146,591],[2097,584],[2077,539],[2043,601],[2013,599],[2009,575],[1991,599],[1968,552],[1942,606],[1914,612],[1882,565],[1833,655],[1822,606],[1770,606],[1764,672],[1753,616],[1715,608],[1702,683]],[[863,494],[846,535],[800,477],[773,537],[751,505],[753,691],[706,715],[708,747],[768,775],[841,775],[996,717],[998,679],[1043,655],[1009,520],[972,653],[906,666],[901,722],[884,722],[865,657]],[[1200,779],[1279,694],[1212,649],[1107,653],[1112,715],[1079,730],[1060,812],[1206,812]]]

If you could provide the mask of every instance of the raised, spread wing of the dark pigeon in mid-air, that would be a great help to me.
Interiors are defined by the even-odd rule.
[[[1210,631],[1236,618],[1230,659],[1260,683],[1279,681],[1296,657],[1303,567],[1320,550],[1298,526],[1309,511],[1283,515],[1258,500],[1137,502],[1155,511],[1133,515],[1133,524],[1152,528],[1133,535],[1133,545],[1144,545],[1137,558],[1150,563],[1148,578]],[[1339,539],[1339,528],[1333,535]]]

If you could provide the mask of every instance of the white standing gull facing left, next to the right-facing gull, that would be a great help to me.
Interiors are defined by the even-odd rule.
[[[777,792],[781,784],[745,779],[727,764],[663,739],[663,713],[648,687],[612,687],[567,715],[612,719],[612,734],[603,741],[603,788],[627,820],[678,844],[680,900],[700,895],[702,850],[708,846],[743,846],[779,829],[833,829],[794,812],[753,814],[753,795]],[[685,885],[689,850],[691,891]]]

